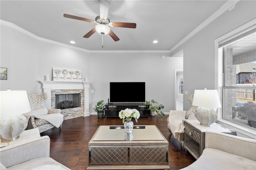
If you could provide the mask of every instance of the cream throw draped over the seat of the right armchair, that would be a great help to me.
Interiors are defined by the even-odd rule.
[[[179,133],[184,133],[185,126],[182,124],[182,120],[185,119],[185,113],[186,111],[176,110],[170,112],[172,116],[169,115],[169,125],[175,138],[178,138]]]

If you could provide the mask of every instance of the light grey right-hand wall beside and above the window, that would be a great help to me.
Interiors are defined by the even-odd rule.
[[[183,49],[184,90],[194,93],[195,89],[214,89],[214,41],[256,17],[256,1],[240,0],[235,8],[226,11],[188,41],[172,51]],[[171,53],[171,54],[172,54]],[[190,104],[184,95],[184,110]]]

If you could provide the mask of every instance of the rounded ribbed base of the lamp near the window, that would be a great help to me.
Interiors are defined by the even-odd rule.
[[[216,111],[209,107],[197,107],[195,117],[200,122],[200,125],[205,127],[210,127],[218,119]]]

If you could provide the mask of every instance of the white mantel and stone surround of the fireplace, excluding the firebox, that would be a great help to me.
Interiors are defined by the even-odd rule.
[[[44,93],[47,93],[46,107],[55,109],[55,94],[80,93],[80,107],[62,109],[63,119],[90,116],[89,88],[91,82],[39,81]]]

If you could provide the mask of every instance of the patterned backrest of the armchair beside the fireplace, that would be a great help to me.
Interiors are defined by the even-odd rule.
[[[31,110],[44,108],[46,99],[47,99],[47,93],[28,94],[28,101],[29,101]]]

